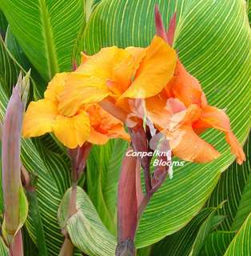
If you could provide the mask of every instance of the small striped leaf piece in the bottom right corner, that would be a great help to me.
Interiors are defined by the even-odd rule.
[[[251,214],[246,218],[224,256],[244,256],[251,254]]]

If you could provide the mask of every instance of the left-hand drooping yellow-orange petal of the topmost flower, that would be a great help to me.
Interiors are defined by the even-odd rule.
[[[68,76],[65,90],[61,94],[59,113],[72,116],[84,104],[101,102],[109,94],[110,90],[102,79],[73,72]]]

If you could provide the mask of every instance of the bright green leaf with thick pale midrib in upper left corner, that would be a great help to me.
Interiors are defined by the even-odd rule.
[[[71,54],[84,25],[82,0],[1,0],[14,37],[34,67],[49,80],[71,70]]]

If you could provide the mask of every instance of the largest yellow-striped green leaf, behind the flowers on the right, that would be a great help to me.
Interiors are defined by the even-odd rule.
[[[244,143],[251,116],[251,32],[243,1],[150,0],[145,4],[103,0],[86,25],[78,51],[94,54],[105,46],[147,46],[155,33],[156,3],[165,25],[177,12],[174,46],[181,62],[201,81],[209,103],[226,109],[234,133]],[[174,168],[173,179],[154,194],[141,217],[137,247],[153,244],[185,226],[205,204],[221,172],[233,162],[222,134],[209,130],[203,138],[221,152],[221,158],[207,165]]]

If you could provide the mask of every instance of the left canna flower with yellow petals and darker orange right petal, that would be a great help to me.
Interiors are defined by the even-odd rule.
[[[58,140],[71,149],[82,146],[84,142],[104,144],[109,138],[128,140],[123,123],[99,106],[82,106],[71,117],[59,112],[60,95],[69,74],[56,74],[45,91],[45,98],[30,102],[24,116],[23,137],[38,137],[54,132]],[[94,109],[97,113],[94,113]]]

